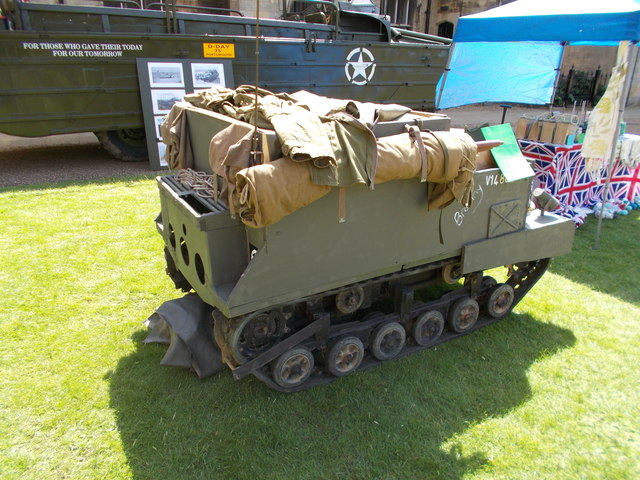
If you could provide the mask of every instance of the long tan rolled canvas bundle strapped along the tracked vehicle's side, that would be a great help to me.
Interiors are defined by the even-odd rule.
[[[470,205],[476,144],[465,133],[413,132],[377,141],[375,183],[424,178],[429,209],[453,200]],[[272,225],[329,193],[332,187],[311,180],[310,166],[283,157],[244,168],[235,175],[234,204],[251,227]]]

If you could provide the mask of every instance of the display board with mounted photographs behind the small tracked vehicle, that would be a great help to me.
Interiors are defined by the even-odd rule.
[[[153,170],[167,168],[160,125],[174,103],[207,88],[234,88],[231,60],[138,58],[144,127]]]

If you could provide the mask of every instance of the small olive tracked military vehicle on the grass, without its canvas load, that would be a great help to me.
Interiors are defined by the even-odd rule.
[[[420,118],[382,122],[374,132],[379,140],[401,134],[407,122],[449,130],[443,115],[411,115]],[[211,173],[216,122],[189,117],[196,170]],[[268,136],[263,141],[265,150]],[[253,228],[197,183],[159,177],[167,272],[177,288],[195,292],[150,319],[153,337],[170,338],[163,363],[201,377],[226,365],[236,379],[253,374],[291,392],[503,318],[550,258],[570,251],[574,226],[545,213],[545,201],[530,208],[532,176],[507,182],[483,160],[472,184],[470,204],[442,209],[429,209],[437,187],[428,177],[333,188]],[[501,282],[485,273],[496,267],[505,268]]]

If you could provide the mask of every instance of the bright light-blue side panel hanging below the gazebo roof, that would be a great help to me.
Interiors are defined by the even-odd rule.
[[[496,49],[499,53],[496,54]],[[553,94],[559,43],[460,43],[451,54],[453,68],[439,108],[482,102],[544,105]],[[526,61],[514,62],[514,58]],[[441,80],[442,82],[442,80]]]

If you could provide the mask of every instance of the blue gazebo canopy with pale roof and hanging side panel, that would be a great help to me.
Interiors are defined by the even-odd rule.
[[[461,17],[438,108],[494,101],[550,103],[549,79],[557,75],[561,43],[610,45],[623,40],[640,40],[640,0],[516,0]],[[543,52],[544,45],[550,52],[546,63],[532,53]]]

